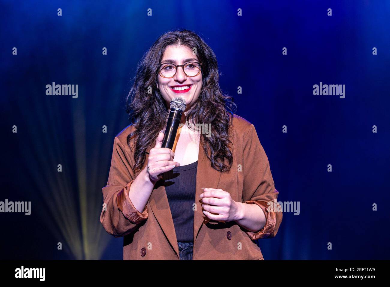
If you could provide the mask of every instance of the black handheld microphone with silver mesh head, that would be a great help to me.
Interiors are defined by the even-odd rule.
[[[163,145],[161,147],[172,149],[173,144],[175,143],[177,128],[179,128],[181,115],[186,107],[186,101],[182,97],[174,97],[170,102],[171,111],[169,113]]]

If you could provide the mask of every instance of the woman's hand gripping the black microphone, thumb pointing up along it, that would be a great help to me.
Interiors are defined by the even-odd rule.
[[[180,165],[180,163],[173,161],[175,154],[172,149],[161,147],[163,139],[164,133],[160,131],[156,138],[156,145],[149,151],[146,170],[150,181],[153,183],[156,183],[162,177],[162,173]]]

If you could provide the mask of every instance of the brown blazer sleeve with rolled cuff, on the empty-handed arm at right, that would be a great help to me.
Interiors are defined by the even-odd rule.
[[[275,237],[283,217],[282,209],[277,204],[279,192],[275,189],[268,157],[253,124],[244,137],[243,151],[243,202],[256,204],[266,217],[263,229],[246,231],[246,234],[252,240]]]

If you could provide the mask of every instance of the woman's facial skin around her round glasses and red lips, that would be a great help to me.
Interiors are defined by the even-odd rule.
[[[186,46],[167,46],[160,64],[169,63],[169,60],[172,60],[176,65],[184,65],[194,61],[199,62],[197,55],[193,55],[192,50]],[[164,78],[159,73],[157,82],[157,88],[160,90],[168,108],[174,97],[183,97],[187,103],[186,111],[188,111],[196,103],[202,90],[202,72],[197,76],[188,77],[184,74],[182,67],[178,67],[173,78]],[[187,92],[177,93],[172,89],[175,86],[190,86],[190,89]]]

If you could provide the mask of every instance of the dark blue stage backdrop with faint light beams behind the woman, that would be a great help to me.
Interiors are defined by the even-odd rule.
[[[0,214],[0,259],[122,259],[123,238],[99,222],[101,188],[137,63],[175,28],[215,51],[278,201],[300,202],[258,241],[264,259],[389,259],[389,1],[3,0],[0,11],[0,201],[32,202],[30,216]],[[52,82],[78,84],[78,98],[47,96]],[[314,96],[320,82],[346,85],[345,98]]]

